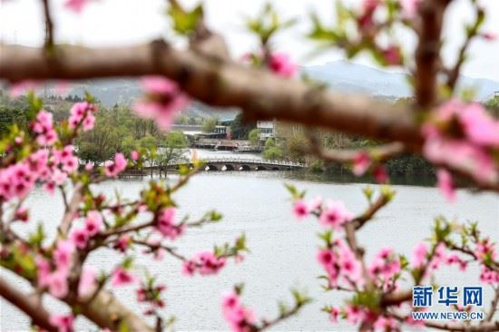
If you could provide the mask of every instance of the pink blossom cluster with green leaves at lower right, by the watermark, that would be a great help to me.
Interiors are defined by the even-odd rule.
[[[402,323],[424,326],[424,322],[415,321],[410,315],[404,314],[410,310],[410,308],[402,310],[402,306],[410,305],[405,300],[390,305],[399,312],[398,316],[387,311],[379,311],[377,308],[383,305],[373,301],[403,292],[401,281],[406,280],[406,275],[414,278],[417,285],[433,280],[431,278],[435,276],[435,271],[445,266],[455,266],[465,271],[469,263],[469,260],[463,258],[465,255],[481,263],[482,283],[491,285],[499,283],[499,264],[495,260],[497,254],[494,243],[489,238],[480,239],[473,225],[470,228],[456,227],[443,218],[437,218],[434,240],[431,243],[417,243],[410,259],[386,247],[380,249],[368,262],[363,250],[356,251],[357,244],[352,245],[357,241],[355,235],[339,231],[347,226],[347,222],[353,220],[352,214],[343,203],[339,201],[324,203],[320,198],[306,201],[303,192],[292,186],[288,188],[294,198],[292,210],[295,216],[302,219],[313,215],[328,229],[320,234],[324,246],[318,249],[317,253],[318,263],[326,272],[326,276],[322,277],[328,281],[326,288],[349,291],[353,295],[343,307],[324,308],[333,322],[337,322],[338,317],[343,317],[351,324],[361,324],[376,331],[397,330]],[[371,194],[367,194],[372,207],[374,203],[370,197]],[[459,247],[450,237],[453,229],[461,229],[460,239],[471,238],[471,242],[475,243],[475,249],[466,244],[469,240],[463,241],[462,247]],[[345,235],[345,239],[342,239],[341,235]]]

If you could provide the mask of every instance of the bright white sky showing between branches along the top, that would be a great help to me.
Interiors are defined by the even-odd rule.
[[[223,34],[233,56],[254,51],[257,39],[244,27],[244,17],[255,16],[267,2],[273,3],[283,18],[298,18],[298,24],[274,40],[276,50],[286,52],[300,64],[313,65],[344,58],[331,50],[315,56],[316,49],[305,35],[309,29],[308,15],[315,11],[325,22],[334,23],[334,4],[337,0],[205,0],[209,26]],[[479,0],[484,5],[487,19],[484,31],[499,34],[499,1]],[[195,5],[199,0],[181,0],[184,5]],[[360,5],[361,0],[347,0]],[[445,17],[445,63],[455,61],[457,50],[464,39],[464,24],[472,22],[470,0],[454,0]],[[44,40],[44,17],[40,0],[0,0],[0,41],[5,44],[41,45]],[[64,9],[64,0],[52,0],[55,40],[63,44],[111,46],[138,44],[153,38],[172,38],[165,13],[166,0],[95,0],[81,15]],[[413,34],[397,34],[407,50],[413,49]],[[463,73],[470,77],[499,81],[499,41],[476,40],[471,47],[469,61]],[[1,55],[1,54],[0,54]],[[357,63],[375,66],[367,56]]]

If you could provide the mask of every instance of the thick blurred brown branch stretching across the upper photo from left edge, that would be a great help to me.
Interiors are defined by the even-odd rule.
[[[162,42],[100,49],[60,46],[53,57],[37,48],[0,46],[0,77],[9,81],[148,74],[163,74],[210,105],[240,107],[249,118],[279,118],[409,145],[423,142],[408,108],[328,92]]]

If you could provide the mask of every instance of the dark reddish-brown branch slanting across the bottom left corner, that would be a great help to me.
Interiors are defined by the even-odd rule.
[[[50,314],[40,306],[40,303],[9,285],[5,278],[0,278],[0,296],[22,310],[32,319],[34,325],[43,327],[47,331],[57,331],[57,328],[50,324]]]

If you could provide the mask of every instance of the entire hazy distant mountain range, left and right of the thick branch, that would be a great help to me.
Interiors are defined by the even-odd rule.
[[[322,65],[305,66],[302,73],[311,78],[328,83],[331,89],[345,93],[367,93],[372,96],[396,99],[411,95],[411,88],[404,73],[392,73],[346,61],[336,61]],[[499,82],[486,79],[473,79],[462,76],[460,88],[475,88],[476,100],[485,101],[499,91]],[[52,89],[51,89],[52,90]],[[114,103],[131,104],[141,95],[141,88],[135,79],[106,79],[75,83],[69,94],[83,96],[84,91],[92,93],[104,105]],[[223,118],[235,116],[237,110],[220,112],[196,103],[189,110],[193,115],[210,116],[213,112]]]

